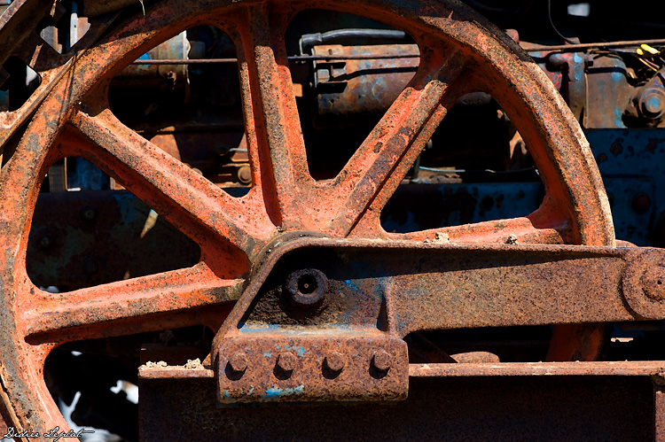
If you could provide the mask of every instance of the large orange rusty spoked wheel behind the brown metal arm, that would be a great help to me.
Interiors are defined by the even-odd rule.
[[[316,3],[319,9],[362,11],[407,31],[419,43],[421,60],[409,86],[340,174],[314,181],[284,47],[290,19],[311,6],[279,0],[160,2],[145,17],[114,27],[45,99],[0,177],[0,392],[9,424],[66,428],[43,382],[43,361],[56,345],[197,323],[218,327],[239,298],[254,256],[282,232],[434,237],[434,231],[388,234],[379,213],[446,110],[468,91],[489,92],[511,115],[546,191],[528,217],[444,229],[451,241],[496,242],[515,235],[524,243],[614,244],[599,172],[573,115],[512,41],[455,2]],[[107,102],[108,84],[123,66],[206,23],[222,27],[238,48],[254,182],[243,198],[232,198],[137,136]],[[25,268],[31,214],[47,168],[66,156],[92,160],[200,244],[200,264],[58,295],[38,290]],[[560,330],[553,357],[593,356],[596,329]]]

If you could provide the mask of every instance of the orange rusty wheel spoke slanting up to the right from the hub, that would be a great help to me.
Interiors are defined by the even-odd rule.
[[[333,230],[347,235],[380,191],[389,196],[402,181],[453,101],[450,84],[464,70],[465,58],[453,51],[443,59],[424,58],[419,74],[397,97],[334,184],[339,212]],[[376,207],[380,211],[387,202]]]

